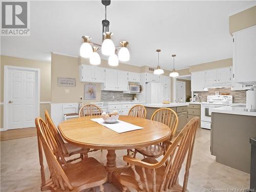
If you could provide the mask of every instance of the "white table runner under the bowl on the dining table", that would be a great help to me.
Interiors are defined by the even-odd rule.
[[[107,127],[108,129],[115,131],[117,133],[124,133],[124,132],[130,132],[130,131],[134,131],[134,130],[141,130],[144,129],[141,126],[137,126],[131,123],[127,123],[121,120],[118,120],[116,123],[105,123],[104,120],[102,118],[95,118],[95,119],[91,119],[92,121],[99,123],[105,127]]]

